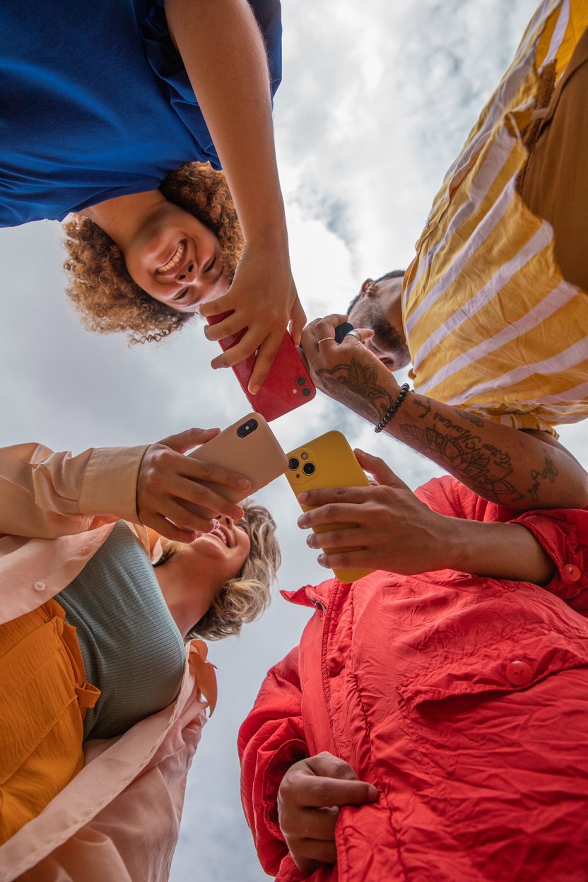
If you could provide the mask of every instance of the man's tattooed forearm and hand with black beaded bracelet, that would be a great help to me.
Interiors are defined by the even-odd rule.
[[[354,337],[340,345],[334,329],[346,317],[317,319],[302,335],[316,385],[376,424],[398,398],[395,377]],[[362,332],[365,339],[369,332]],[[320,346],[318,340],[323,340]],[[523,432],[410,393],[385,428],[458,478],[478,496],[509,508],[584,508],[588,475],[547,433]]]

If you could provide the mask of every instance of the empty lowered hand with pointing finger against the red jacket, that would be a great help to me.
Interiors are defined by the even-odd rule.
[[[290,766],[279,785],[279,827],[298,869],[310,873],[322,863],[337,863],[339,806],[377,799],[373,784],[360,781],[351,766],[327,751]]]

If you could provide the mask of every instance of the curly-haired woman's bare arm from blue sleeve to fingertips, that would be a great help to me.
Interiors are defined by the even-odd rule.
[[[290,268],[264,41],[247,0],[167,0],[166,14],[245,239],[231,288],[203,303],[200,312],[213,316],[234,310],[230,318],[206,329],[209,340],[249,330],[212,366],[229,367],[259,349],[249,383],[255,393],[288,321],[295,342],[305,321]]]

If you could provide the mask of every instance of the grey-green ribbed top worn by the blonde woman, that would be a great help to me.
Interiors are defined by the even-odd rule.
[[[101,693],[86,712],[85,739],[122,735],[175,699],[182,635],[145,550],[122,520],[56,600],[78,629],[86,679]]]

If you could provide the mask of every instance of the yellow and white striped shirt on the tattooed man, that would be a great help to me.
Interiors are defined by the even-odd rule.
[[[588,416],[588,294],[562,278],[553,228],[516,188],[538,71],[556,58],[559,77],[587,26],[588,0],[540,4],[404,280],[415,389],[517,428]]]

